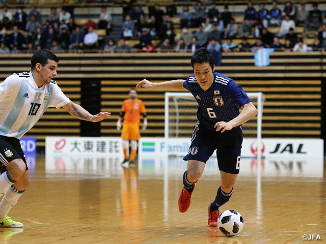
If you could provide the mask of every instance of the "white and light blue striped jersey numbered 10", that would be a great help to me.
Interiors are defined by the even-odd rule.
[[[47,107],[60,108],[69,102],[55,81],[38,88],[32,72],[13,74],[0,83],[0,135],[19,139]]]

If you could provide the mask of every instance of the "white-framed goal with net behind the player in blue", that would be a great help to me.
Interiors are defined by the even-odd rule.
[[[257,108],[257,115],[242,125],[243,137],[255,138],[257,145],[260,146],[264,94],[247,93],[247,95]],[[168,145],[180,138],[191,138],[198,120],[197,109],[198,103],[191,93],[165,93],[165,139]]]

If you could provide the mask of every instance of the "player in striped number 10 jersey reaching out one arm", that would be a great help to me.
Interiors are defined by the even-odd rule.
[[[31,58],[31,72],[13,74],[0,83],[0,227],[23,227],[7,216],[30,183],[19,138],[35,125],[45,109],[63,107],[76,118],[92,122],[111,116],[108,112],[92,115],[63,94],[52,80],[58,62],[52,52],[39,50]]]

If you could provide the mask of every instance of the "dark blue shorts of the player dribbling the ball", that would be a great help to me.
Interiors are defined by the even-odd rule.
[[[206,163],[216,149],[219,169],[226,173],[238,174],[242,140],[241,129],[221,133],[208,130],[197,122],[188,154],[183,160],[197,160]]]

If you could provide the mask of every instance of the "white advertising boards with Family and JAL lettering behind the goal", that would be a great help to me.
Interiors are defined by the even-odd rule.
[[[185,156],[190,146],[190,138],[170,139],[142,137],[139,140],[139,155],[176,155]],[[262,156],[277,158],[323,158],[322,139],[262,139]],[[241,157],[257,156],[257,141],[244,138]],[[213,154],[212,157],[216,157]]]

